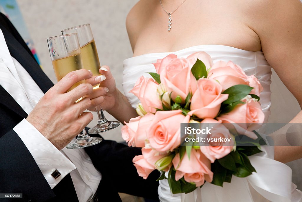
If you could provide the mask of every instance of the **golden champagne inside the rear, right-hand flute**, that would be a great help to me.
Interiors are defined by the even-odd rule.
[[[89,41],[86,45],[81,47],[82,61],[85,69],[90,70],[93,76],[100,75],[99,69],[100,61],[98,59],[98,51],[95,46],[95,41]],[[99,84],[93,88],[98,88]]]

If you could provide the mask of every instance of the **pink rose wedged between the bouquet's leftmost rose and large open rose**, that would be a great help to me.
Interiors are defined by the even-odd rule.
[[[136,136],[134,138],[136,147],[145,146],[145,141],[147,139],[146,128],[149,127],[149,125],[153,121],[154,116],[154,114],[148,113],[140,119],[137,127]]]

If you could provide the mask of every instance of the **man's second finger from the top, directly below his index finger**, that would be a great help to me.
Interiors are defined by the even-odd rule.
[[[80,84],[76,88],[66,93],[68,101],[74,103],[85,95],[92,93],[93,87],[91,84]]]

